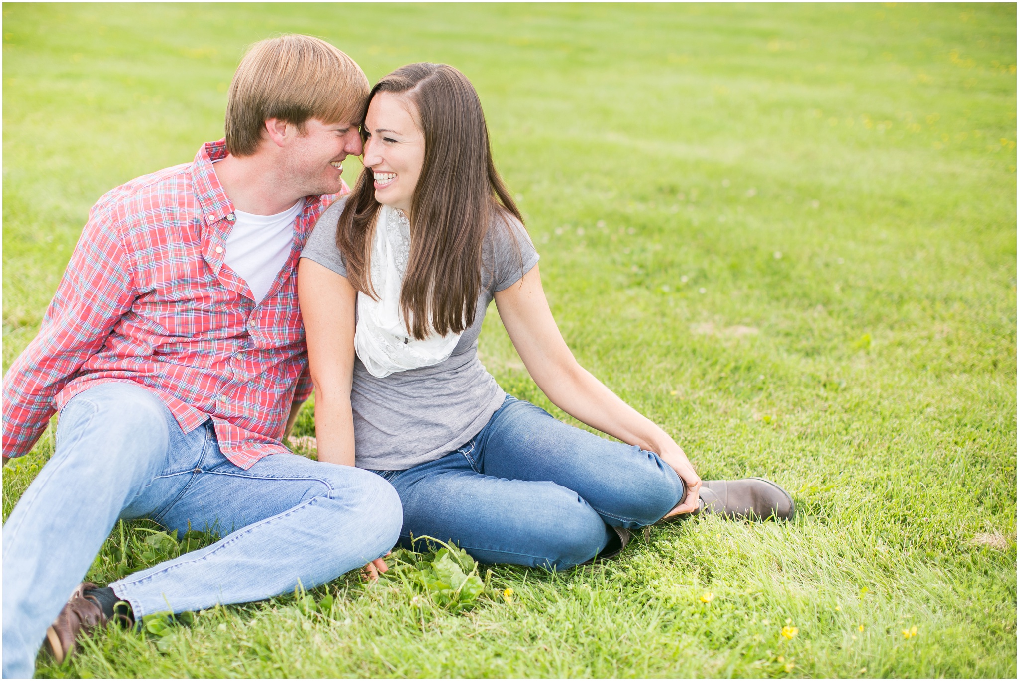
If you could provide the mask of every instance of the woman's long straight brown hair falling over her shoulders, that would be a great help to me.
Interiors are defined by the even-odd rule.
[[[523,218],[495,170],[481,100],[466,75],[446,64],[401,66],[375,84],[365,115],[380,92],[413,102],[425,136],[424,166],[408,216],[411,255],[399,293],[404,323],[418,339],[461,333],[477,312],[481,251],[492,218],[503,212],[521,223]],[[336,224],[347,280],[372,298],[370,256],[380,205],[374,179],[371,168],[362,170]]]

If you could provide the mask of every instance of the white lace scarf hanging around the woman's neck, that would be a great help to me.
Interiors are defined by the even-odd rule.
[[[399,309],[399,290],[411,255],[411,222],[403,212],[381,206],[372,240],[372,289],[379,299],[358,292],[354,350],[368,373],[382,378],[397,371],[438,364],[452,354],[460,333],[411,336]]]

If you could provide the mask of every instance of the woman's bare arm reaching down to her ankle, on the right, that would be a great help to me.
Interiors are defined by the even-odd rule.
[[[496,292],[495,305],[524,365],[552,404],[592,428],[657,454],[687,487],[686,499],[668,515],[696,511],[700,477],[687,455],[668,433],[577,363],[552,318],[538,266],[517,283]]]

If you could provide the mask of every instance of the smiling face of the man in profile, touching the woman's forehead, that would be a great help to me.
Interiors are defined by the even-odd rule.
[[[353,122],[323,123],[312,118],[304,134],[287,125],[282,164],[293,189],[302,196],[337,194],[343,159],[361,155],[361,136]]]

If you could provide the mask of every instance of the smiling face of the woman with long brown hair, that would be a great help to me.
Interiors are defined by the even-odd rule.
[[[375,200],[408,214],[425,163],[425,134],[412,111],[409,99],[380,92],[365,116],[364,164],[375,175]]]

